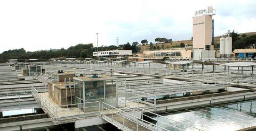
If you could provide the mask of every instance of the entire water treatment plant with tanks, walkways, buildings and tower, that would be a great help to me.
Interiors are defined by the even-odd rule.
[[[256,51],[228,31],[217,57],[215,14],[196,11],[191,47],[0,63],[0,130],[256,130]]]

